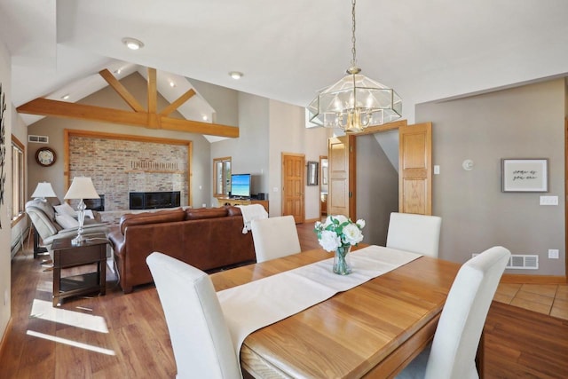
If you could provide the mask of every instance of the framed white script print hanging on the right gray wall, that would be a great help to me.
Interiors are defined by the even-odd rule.
[[[502,192],[548,192],[548,159],[502,159]]]

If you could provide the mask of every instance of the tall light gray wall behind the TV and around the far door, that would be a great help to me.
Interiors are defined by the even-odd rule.
[[[305,128],[303,107],[239,92],[239,138],[211,144],[214,158],[232,157],[233,173],[253,174],[253,193],[268,193],[271,217],[281,215],[281,154],[327,155],[330,130]],[[211,199],[212,203],[217,200]],[[319,186],[305,186],[305,218],[319,218]]]

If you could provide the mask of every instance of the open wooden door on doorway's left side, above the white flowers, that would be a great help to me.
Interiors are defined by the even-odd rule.
[[[327,140],[327,214],[355,217],[355,139],[352,136]]]

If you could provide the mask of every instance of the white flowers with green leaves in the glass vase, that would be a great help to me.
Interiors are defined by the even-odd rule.
[[[361,229],[365,227],[365,220],[359,219],[356,223],[343,215],[327,216],[325,223],[316,222],[314,232],[318,234],[319,245],[327,251],[337,248],[357,245],[363,241]]]

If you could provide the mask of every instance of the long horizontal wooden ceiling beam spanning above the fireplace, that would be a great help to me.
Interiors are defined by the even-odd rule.
[[[121,109],[95,107],[51,99],[35,99],[17,108],[21,114],[40,114],[87,121],[111,122],[124,125],[177,130],[227,138],[239,137],[239,128],[217,123],[173,119],[159,114],[130,112]],[[154,117],[154,120],[150,120]]]

